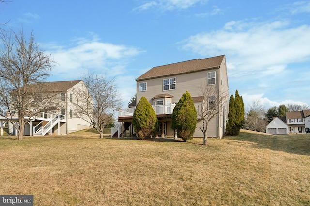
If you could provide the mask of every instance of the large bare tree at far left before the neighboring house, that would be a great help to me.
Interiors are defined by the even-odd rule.
[[[28,121],[25,116],[47,109],[42,103],[45,92],[40,83],[49,76],[54,61],[38,48],[33,33],[27,40],[23,30],[18,33],[2,30],[0,39],[0,116],[14,125],[18,139],[22,140]],[[18,122],[12,118],[16,114]]]

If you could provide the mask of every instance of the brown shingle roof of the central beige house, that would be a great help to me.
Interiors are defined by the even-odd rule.
[[[143,80],[143,79],[152,79],[160,76],[168,76],[172,74],[183,74],[183,73],[190,73],[196,72],[205,69],[212,69],[219,67],[225,58],[225,55],[217,56],[217,57],[210,57],[205,59],[193,59],[188,61],[182,61],[173,64],[167,64],[163,66],[153,67],[146,73],[142,74],[140,77],[136,79]]]

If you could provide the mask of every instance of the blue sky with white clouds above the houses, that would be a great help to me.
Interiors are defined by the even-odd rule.
[[[33,31],[58,62],[49,81],[115,76],[124,107],[154,66],[226,55],[246,109],[310,105],[310,1],[8,0],[2,28]]]

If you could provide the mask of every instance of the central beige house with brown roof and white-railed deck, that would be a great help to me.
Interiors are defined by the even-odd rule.
[[[217,105],[221,112],[212,119],[207,130],[208,137],[221,138],[225,133],[228,117],[228,78],[225,55],[153,67],[138,77],[136,82],[137,101],[133,106],[137,105],[142,96],[153,106],[159,122],[156,136],[176,137],[176,133],[171,129],[171,114],[174,106],[186,91],[191,94],[197,111],[202,108],[203,104],[214,103],[217,95],[226,93],[226,97]],[[205,85],[216,90],[207,101],[201,93],[201,88]],[[118,132],[118,136],[125,135],[125,130],[134,134],[131,125],[134,109],[134,107],[126,108],[119,112],[120,124],[117,127],[122,128],[119,131],[123,132]],[[198,118],[194,137],[203,136],[199,129],[201,126],[202,119]]]

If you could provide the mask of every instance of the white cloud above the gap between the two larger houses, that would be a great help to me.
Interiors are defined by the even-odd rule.
[[[139,48],[100,42],[97,39],[79,39],[69,48],[58,44],[47,44],[57,65],[52,74],[62,78],[76,79],[85,70],[101,71],[107,76],[125,73],[125,66],[131,57],[140,54]]]

